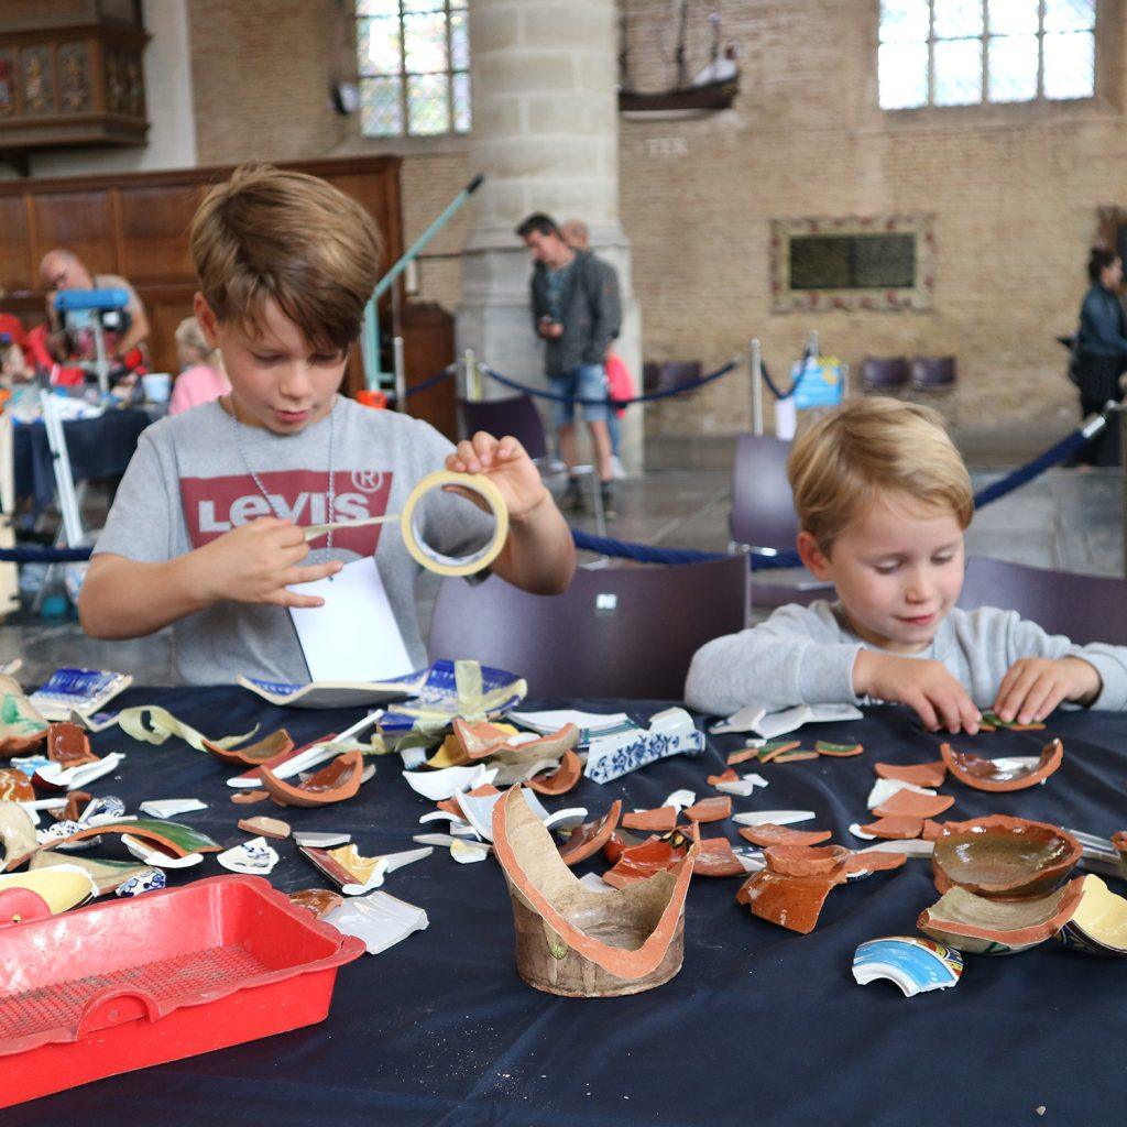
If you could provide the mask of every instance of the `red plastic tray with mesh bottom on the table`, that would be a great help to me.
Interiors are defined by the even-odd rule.
[[[260,877],[32,914],[0,929],[0,1107],[322,1021],[364,952]]]

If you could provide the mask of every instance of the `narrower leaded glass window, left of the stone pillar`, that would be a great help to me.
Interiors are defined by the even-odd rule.
[[[470,130],[468,0],[355,0],[365,136]]]

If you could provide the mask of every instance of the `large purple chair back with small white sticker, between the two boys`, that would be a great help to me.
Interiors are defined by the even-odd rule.
[[[578,570],[562,595],[443,579],[427,651],[511,669],[530,696],[681,700],[693,654],[747,621],[747,560]]]

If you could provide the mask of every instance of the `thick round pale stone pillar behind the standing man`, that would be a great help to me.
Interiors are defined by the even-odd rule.
[[[470,166],[486,181],[462,251],[458,346],[498,372],[544,385],[532,327],[532,263],[514,229],[531,212],[582,219],[619,272],[615,345],[641,384],[641,331],[630,245],[619,224],[618,21],[614,0],[473,0]],[[487,396],[508,390],[486,381]],[[541,403],[543,406],[543,401]],[[641,408],[623,420],[623,462],[641,464]]]

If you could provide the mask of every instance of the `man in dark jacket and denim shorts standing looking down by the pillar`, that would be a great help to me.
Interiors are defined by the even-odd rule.
[[[606,349],[620,329],[618,286],[607,265],[591,251],[573,250],[556,221],[540,212],[516,229],[532,251],[532,320],[547,341],[548,383],[561,396],[583,402],[602,482],[603,508],[613,515],[611,497],[611,440],[606,428]],[[583,507],[583,494],[571,468],[576,464],[575,403],[552,402],[552,421],[560,442],[560,458],[568,467],[564,507]]]

